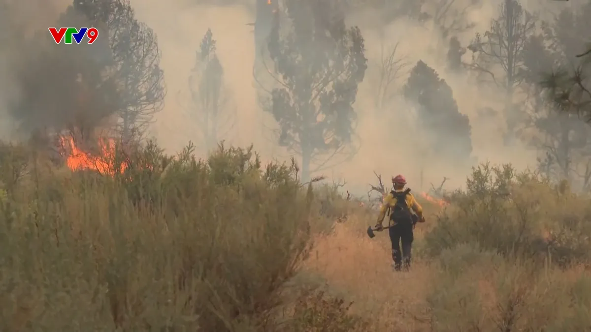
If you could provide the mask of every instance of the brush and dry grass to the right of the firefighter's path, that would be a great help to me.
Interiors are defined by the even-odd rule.
[[[587,331],[591,204],[510,165],[473,169],[424,238],[431,331]]]

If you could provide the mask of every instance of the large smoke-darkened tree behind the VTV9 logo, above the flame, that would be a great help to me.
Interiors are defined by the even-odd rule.
[[[16,73],[22,96],[12,113],[25,127],[85,133],[117,120],[122,138],[139,139],[163,108],[160,51],[150,27],[135,18],[129,0],[76,0],[58,27],[97,27],[93,44],[48,44],[47,30],[26,45]],[[44,42],[45,41],[45,42]]]

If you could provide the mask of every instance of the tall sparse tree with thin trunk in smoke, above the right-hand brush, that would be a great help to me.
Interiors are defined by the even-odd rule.
[[[513,98],[515,89],[525,78],[524,48],[535,33],[537,21],[517,0],[505,0],[499,9],[499,16],[492,20],[491,28],[483,35],[476,34],[467,48],[473,52],[469,68],[486,74],[505,92],[505,143],[509,144],[520,121]],[[495,76],[498,69],[502,71],[502,79]]]

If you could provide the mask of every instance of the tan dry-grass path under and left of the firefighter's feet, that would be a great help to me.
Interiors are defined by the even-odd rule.
[[[394,272],[387,234],[369,239],[361,223],[338,224],[317,239],[307,269],[355,301],[354,310],[375,319],[377,331],[417,331],[414,319],[424,308],[428,266],[415,262],[410,272]]]

